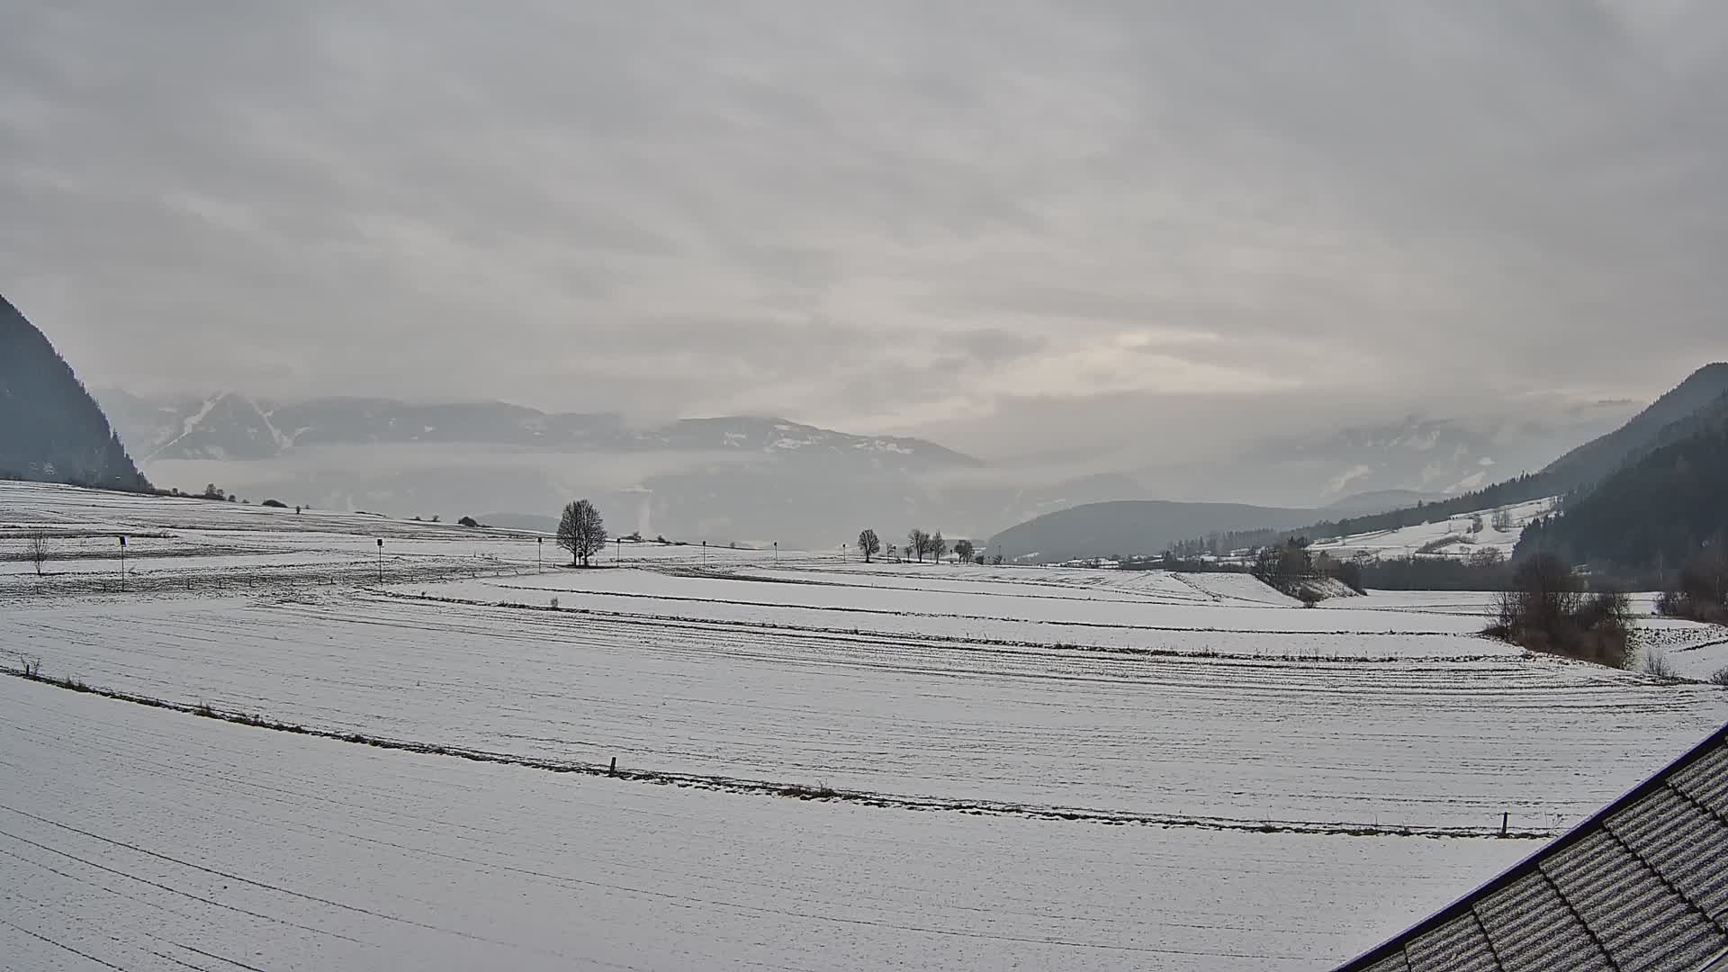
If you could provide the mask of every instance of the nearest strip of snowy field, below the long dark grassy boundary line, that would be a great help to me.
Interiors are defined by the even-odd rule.
[[[569,777],[0,680],[0,965],[1325,969],[1531,849]]]

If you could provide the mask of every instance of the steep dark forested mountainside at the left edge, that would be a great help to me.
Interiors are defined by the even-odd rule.
[[[149,489],[71,365],[0,297],[0,476]]]

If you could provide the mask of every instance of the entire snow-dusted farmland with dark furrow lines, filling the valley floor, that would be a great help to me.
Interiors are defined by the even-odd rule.
[[[1728,719],[1474,636],[1488,595],[536,553],[0,483],[0,666],[116,695],[0,678],[0,956],[1325,969]]]

